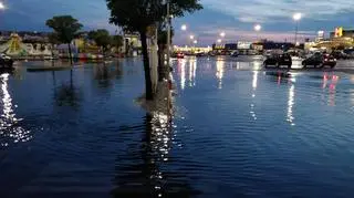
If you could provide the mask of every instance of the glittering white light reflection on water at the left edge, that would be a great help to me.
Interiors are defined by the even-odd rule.
[[[2,114],[0,118],[0,146],[9,146],[12,143],[28,142],[32,138],[30,131],[19,126],[21,118],[15,117],[14,110],[17,105],[12,104],[12,97],[9,93],[8,73],[0,75],[1,81],[1,105]]]

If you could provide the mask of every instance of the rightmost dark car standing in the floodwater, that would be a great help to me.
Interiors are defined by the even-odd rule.
[[[315,53],[312,56],[302,61],[303,67],[313,65],[314,67],[323,67],[325,65],[331,66],[332,69],[336,65],[336,59],[331,54]]]

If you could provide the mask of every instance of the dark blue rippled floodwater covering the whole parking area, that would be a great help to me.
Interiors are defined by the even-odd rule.
[[[0,197],[353,197],[354,75],[173,62],[170,115],[139,59],[1,74]]]

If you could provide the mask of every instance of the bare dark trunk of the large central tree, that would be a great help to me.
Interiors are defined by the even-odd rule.
[[[148,53],[147,53],[146,32],[140,31],[139,33],[140,33],[143,60],[144,60],[146,100],[150,101],[154,98],[154,93],[153,93],[150,66],[149,66],[149,60],[148,60]]]

